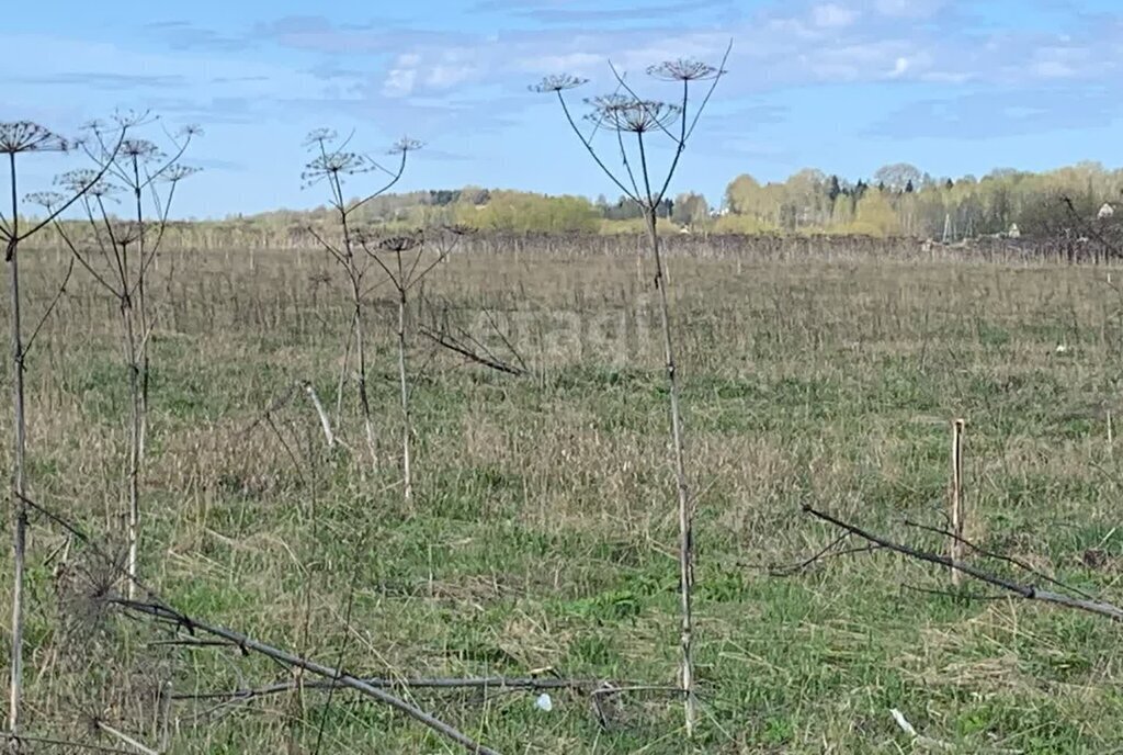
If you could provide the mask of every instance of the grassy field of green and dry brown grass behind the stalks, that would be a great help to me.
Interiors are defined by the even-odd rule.
[[[25,262],[33,324],[57,288],[54,260]],[[354,384],[339,428],[354,453],[327,452],[302,393],[257,421],[301,380],[335,413],[348,315],[328,263],[190,253],[172,276],[170,260],[150,286],[141,548],[168,601],[364,675],[549,666],[674,683],[666,390],[634,258],[460,255],[432,274],[427,297],[472,328],[487,308],[535,374],[413,340],[409,503],[387,289],[371,313],[386,462],[372,471]],[[942,548],[902,519],[941,524],[949,422],[964,417],[968,536],[1123,600],[1123,470],[1107,429],[1121,409],[1123,295],[1110,271],[682,257],[670,267],[699,491],[704,712],[693,748],[681,703],[658,692],[622,695],[608,728],[576,693],[555,693],[549,712],[527,693],[410,698],[512,754],[924,752],[891,708],[952,752],[1123,752],[1123,657],[1108,621],[923,592],[948,590],[947,574],[885,554],[768,573],[836,537],[804,503]],[[127,383],[116,327],[113,303],[76,273],[34,346],[28,411],[34,498],[119,544]],[[34,521],[27,730],[116,745],[90,731],[95,718],[152,743],[165,682],[183,694],[287,677],[229,648],[153,645],[167,631],[83,594],[99,580],[79,544],[57,574],[65,542]],[[1090,549],[1103,557],[1086,563]],[[321,753],[456,752],[351,692],[326,701],[176,701],[170,752],[311,753],[321,722]]]

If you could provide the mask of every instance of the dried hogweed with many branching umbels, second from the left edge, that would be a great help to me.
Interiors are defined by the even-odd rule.
[[[90,182],[91,174],[98,175],[79,202],[84,233],[79,237],[65,224],[54,226],[73,258],[118,302],[129,383],[127,573],[135,577],[139,568],[140,485],[148,428],[148,345],[155,327],[147,307],[145,281],[164,239],[176,187],[199,171],[179,160],[201,131],[188,127],[170,136],[171,156],[155,143],[139,138],[127,138],[119,149],[111,151],[100,124],[91,125],[89,131],[85,152],[102,166],[100,174],[80,170],[58,179],[61,185],[73,190]],[[124,222],[110,212],[110,202],[121,193],[129,195],[135,211],[134,219]],[[49,210],[57,197],[40,194],[38,199]],[[145,211],[146,200],[150,202],[150,213]]]

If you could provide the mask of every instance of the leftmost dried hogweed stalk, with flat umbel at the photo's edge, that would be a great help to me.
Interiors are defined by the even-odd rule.
[[[120,119],[117,121],[116,139],[107,149],[117,154],[130,124]],[[65,212],[72,204],[79,201],[90,188],[99,181],[104,171],[95,172],[89,176],[89,181],[82,184],[70,187],[71,191],[66,195],[58,195],[58,200],[48,209],[46,216],[30,221],[22,227],[20,225],[21,202],[19,197],[19,160],[29,154],[64,153],[72,149],[73,142],[58,136],[54,131],[30,121],[0,122],[0,155],[8,157],[8,181],[10,184],[11,217],[7,217],[0,211],[0,242],[4,244],[4,261],[8,263],[8,293],[11,301],[11,408],[12,408],[12,476],[11,476],[11,510],[12,510],[12,606],[11,606],[11,654],[10,654],[10,677],[8,686],[8,730],[12,734],[19,731],[20,726],[20,700],[22,695],[22,651],[24,651],[24,576],[26,571],[27,551],[27,507],[24,501],[27,497],[27,417],[25,413],[24,397],[24,370],[26,367],[27,353],[33,338],[27,343],[24,340],[22,312],[19,289],[19,247],[35,236],[37,233],[54,222],[60,215]],[[70,271],[66,273],[70,278]],[[60,288],[60,292],[65,288]],[[61,295],[61,293],[60,293]],[[57,302],[57,298],[55,299]],[[43,316],[44,320],[51,315],[54,303]],[[40,320],[42,326],[42,320]],[[38,333],[38,326],[33,333]]]

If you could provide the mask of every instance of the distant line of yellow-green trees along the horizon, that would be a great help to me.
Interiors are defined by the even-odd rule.
[[[832,234],[960,240],[1007,234],[1053,234],[1072,220],[1068,199],[1093,218],[1123,190],[1123,171],[1080,163],[1047,173],[994,171],[982,179],[933,178],[907,164],[886,165],[871,179],[848,181],[816,170],[784,182],[743,174],[718,203],[687,192],[659,209],[665,230],[714,234]],[[273,233],[327,220],[326,208],[280,210],[228,218],[226,228],[250,224]],[[478,187],[386,194],[369,202],[365,222],[392,227],[458,224],[505,233],[638,233],[639,209],[624,199],[550,197]]]

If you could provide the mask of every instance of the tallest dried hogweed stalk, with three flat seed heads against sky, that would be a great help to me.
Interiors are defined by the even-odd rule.
[[[655,288],[659,293],[659,316],[663,329],[664,366],[670,395],[670,437],[674,446],[675,486],[678,493],[678,562],[679,593],[682,611],[682,664],[681,686],[685,699],[686,734],[693,736],[696,719],[696,699],[694,694],[693,663],[693,617],[692,592],[694,584],[694,535],[693,502],[686,476],[685,448],[683,439],[683,419],[678,398],[678,373],[675,362],[675,340],[670,321],[670,304],[667,294],[666,270],[659,248],[657,228],[657,211],[663,203],[670,182],[678,169],[679,160],[686,152],[686,145],[697,126],[699,118],[705,110],[718,82],[724,75],[724,64],[714,67],[693,60],[677,60],[648,67],[647,73],[654,79],[677,82],[682,85],[682,99],[678,103],[661,102],[640,97],[627,83],[624,78],[612,69],[617,79],[617,91],[585,100],[592,111],[586,119],[592,124],[590,133],[584,134],[574,120],[565,99],[565,92],[585,83],[585,80],[572,75],[548,76],[531,89],[542,93],[554,93],[573,133],[581,140],[596,165],[609,179],[634,202],[642,212],[646,226],[651,260],[655,264]],[[610,64],[611,65],[611,64]],[[709,81],[710,87],[692,110],[691,87],[695,82]],[[608,166],[602,149],[594,144],[596,136],[606,131],[615,136],[615,143],[608,149],[617,152],[621,169],[614,172]],[[669,144],[670,161],[661,174],[652,170],[652,149],[656,142],[664,146]]]

